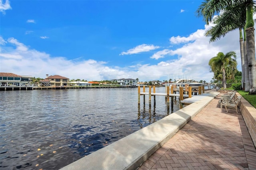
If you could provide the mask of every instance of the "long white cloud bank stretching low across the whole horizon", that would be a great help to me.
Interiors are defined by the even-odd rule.
[[[209,43],[209,38],[204,37],[206,29],[208,26],[188,36],[172,37],[173,42],[180,44],[175,45],[178,47],[172,46],[154,53],[151,56],[152,59],[161,59],[157,63],[131,64],[126,67],[110,67],[106,61],[94,59],[70,60],[65,57],[51,56],[42,51],[30,49],[15,38],[5,41],[0,37],[1,71],[41,78],[45,78],[46,74],[62,75],[70,79],[79,78],[88,81],[120,78],[162,81],[168,78],[185,77],[210,82],[213,77],[208,66],[210,58],[216,56],[218,52],[227,53],[228,51],[236,52],[238,70],[241,70],[239,31],[235,30],[217,42]]]

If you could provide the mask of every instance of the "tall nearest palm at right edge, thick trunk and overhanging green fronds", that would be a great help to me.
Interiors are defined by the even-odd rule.
[[[246,51],[247,51],[247,57],[248,57],[249,79],[250,79],[249,94],[256,94],[256,59],[255,59],[255,41],[254,41],[254,21],[252,19],[254,4],[255,4],[254,0],[235,0],[235,1],[205,0],[196,11],[198,13],[198,16],[203,16],[206,24],[209,24],[210,22],[212,22],[212,17],[215,14],[218,14],[222,11],[224,11],[224,13],[226,11],[232,12],[232,13],[229,13],[229,15],[234,14],[230,16],[233,17],[235,21],[233,20],[233,22],[230,22],[230,25],[224,25],[222,31],[225,32],[226,28],[229,28],[230,30],[230,27],[233,27],[234,25],[240,25],[240,27],[236,27],[236,28],[241,28],[242,20],[237,20],[237,19],[238,18],[241,19],[244,17],[244,11],[245,11],[244,8],[246,8],[245,30],[246,30],[246,40],[247,40]],[[226,21],[223,20],[223,22],[224,23],[228,22],[228,20]],[[225,26],[229,26],[229,27],[225,27]],[[225,35],[226,33],[224,33],[223,35]],[[216,37],[220,38],[218,36]]]

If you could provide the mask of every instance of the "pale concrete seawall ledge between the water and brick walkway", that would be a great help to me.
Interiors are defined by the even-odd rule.
[[[199,113],[218,93],[205,93],[183,109],[164,117],[61,170],[134,170]]]

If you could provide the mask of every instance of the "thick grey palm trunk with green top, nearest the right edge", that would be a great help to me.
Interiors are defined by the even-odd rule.
[[[249,95],[256,94],[256,59],[255,59],[255,40],[254,40],[254,21],[252,19],[252,4],[246,7],[246,41],[247,58],[250,79]]]

